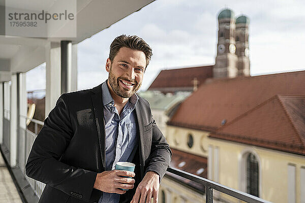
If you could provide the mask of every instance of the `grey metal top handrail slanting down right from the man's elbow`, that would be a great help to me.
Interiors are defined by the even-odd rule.
[[[216,183],[214,181],[210,181],[208,179],[205,179],[205,178],[202,178],[200,176],[196,176],[196,175],[190,174],[188,172],[179,170],[179,169],[171,167],[171,166],[169,166],[167,171],[169,173],[178,175],[178,176],[180,176],[182,178],[186,178],[186,179],[195,181],[196,183],[203,184],[206,187],[213,188],[215,190],[218,190],[218,191],[223,192],[225,194],[228,194],[230,196],[236,197],[236,198],[238,198],[240,200],[247,201],[249,203],[271,203],[270,201],[266,201],[266,200],[261,199],[259,197],[253,196],[251,194],[247,194],[245,192],[241,192],[241,191],[235,190],[233,188],[221,185],[221,184]]]

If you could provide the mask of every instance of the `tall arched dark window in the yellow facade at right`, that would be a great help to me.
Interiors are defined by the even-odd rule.
[[[258,161],[254,154],[247,157],[247,193],[258,197]]]

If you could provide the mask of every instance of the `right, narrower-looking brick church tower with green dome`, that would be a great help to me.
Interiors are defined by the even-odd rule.
[[[249,60],[249,18],[239,16],[236,18],[236,54],[238,57],[238,76],[250,76]]]

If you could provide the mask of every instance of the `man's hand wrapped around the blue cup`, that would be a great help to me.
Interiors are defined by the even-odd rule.
[[[102,172],[97,175],[93,188],[103,192],[124,194],[126,193],[126,190],[120,190],[118,188],[132,189],[134,187],[133,184],[135,183],[135,179],[120,176],[134,177],[135,173],[123,170]]]

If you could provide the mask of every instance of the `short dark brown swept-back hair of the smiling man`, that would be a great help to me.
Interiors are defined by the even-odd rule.
[[[153,51],[142,38],[139,38],[138,36],[135,35],[134,36],[121,35],[116,37],[110,45],[109,58],[111,61],[113,61],[114,57],[116,56],[117,52],[121,47],[126,47],[129,49],[144,52],[146,57],[146,67],[150,61],[151,56],[153,55]]]

